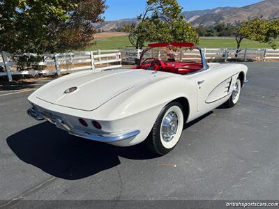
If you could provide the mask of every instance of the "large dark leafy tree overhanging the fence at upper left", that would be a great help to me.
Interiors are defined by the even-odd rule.
[[[92,45],[104,0],[0,0],[0,51],[66,52]]]

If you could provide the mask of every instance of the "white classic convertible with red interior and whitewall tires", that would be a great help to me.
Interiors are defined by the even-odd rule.
[[[134,69],[86,70],[32,93],[27,111],[69,134],[115,146],[145,141],[158,155],[178,143],[183,125],[239,101],[248,68],[206,63],[190,42],[150,44]]]

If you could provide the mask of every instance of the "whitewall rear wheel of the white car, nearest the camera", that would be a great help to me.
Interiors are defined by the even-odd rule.
[[[146,139],[146,144],[153,153],[165,155],[179,142],[184,124],[182,109],[179,102],[171,102],[160,112]]]

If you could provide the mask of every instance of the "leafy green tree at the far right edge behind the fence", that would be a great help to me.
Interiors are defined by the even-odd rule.
[[[241,46],[244,38],[255,40],[257,42],[269,43],[273,49],[276,49],[276,38],[279,37],[279,20],[265,21],[256,18],[248,22],[243,22],[236,30],[237,49]]]

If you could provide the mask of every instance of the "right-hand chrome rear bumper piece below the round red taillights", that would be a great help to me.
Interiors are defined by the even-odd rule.
[[[137,136],[137,134],[140,134],[140,130],[134,130],[131,132],[125,132],[121,134],[90,134],[89,132],[86,131],[73,129],[70,130],[68,133],[77,137],[82,137],[84,139],[90,139],[93,141],[116,142],[116,141],[122,141],[124,139],[129,139],[131,137],[135,137]]]

